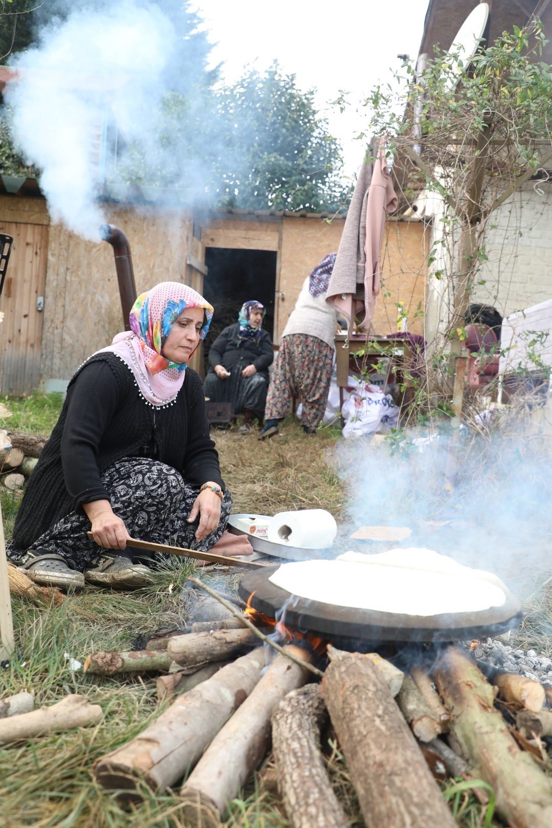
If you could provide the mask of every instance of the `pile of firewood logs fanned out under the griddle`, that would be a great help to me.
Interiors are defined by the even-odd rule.
[[[95,763],[103,787],[137,801],[144,782],[162,792],[186,777],[185,816],[220,826],[271,748],[290,825],[344,828],[348,817],[320,747],[329,721],[368,828],[453,828],[439,782],[458,777],[473,781],[482,802],[492,787],[506,825],[552,826],[543,741],[552,733],[552,710],[544,709],[552,691],[547,701],[545,688],[524,676],[489,680],[462,647],[442,648],[403,673],[377,653],[329,645],[319,681],[300,643],[274,657],[243,623],[194,624],[140,652],[86,659],[85,671],[101,675],[161,673],[157,694],[169,702],[135,739]]]

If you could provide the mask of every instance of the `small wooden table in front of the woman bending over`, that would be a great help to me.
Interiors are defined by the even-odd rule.
[[[370,366],[382,359],[389,359],[387,374],[394,374],[396,382],[406,388],[411,388],[411,380],[406,378],[405,372],[410,366],[412,350],[407,339],[391,339],[388,336],[353,336],[338,334],[335,337],[335,359],[337,366],[337,383],[339,388],[339,402],[343,407],[343,388],[348,386],[348,376],[360,373],[362,368],[370,373]],[[343,345],[348,341],[348,348]]]

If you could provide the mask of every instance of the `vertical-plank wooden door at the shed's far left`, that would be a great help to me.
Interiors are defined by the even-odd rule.
[[[22,394],[38,388],[41,378],[48,227],[2,221],[0,231],[13,236],[0,296],[0,389]]]

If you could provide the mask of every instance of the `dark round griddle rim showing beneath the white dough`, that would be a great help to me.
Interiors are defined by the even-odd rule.
[[[271,583],[277,566],[244,575],[239,596],[269,618],[321,638],[373,642],[451,642],[506,633],[521,623],[521,604],[506,587],[506,602],[478,612],[420,616],[353,609],[291,595]]]

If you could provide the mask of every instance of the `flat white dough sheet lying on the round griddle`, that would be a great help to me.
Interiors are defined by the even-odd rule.
[[[323,604],[425,618],[480,612],[506,602],[495,575],[430,549],[346,552],[335,561],[295,561],[280,566],[270,580],[292,595]]]

